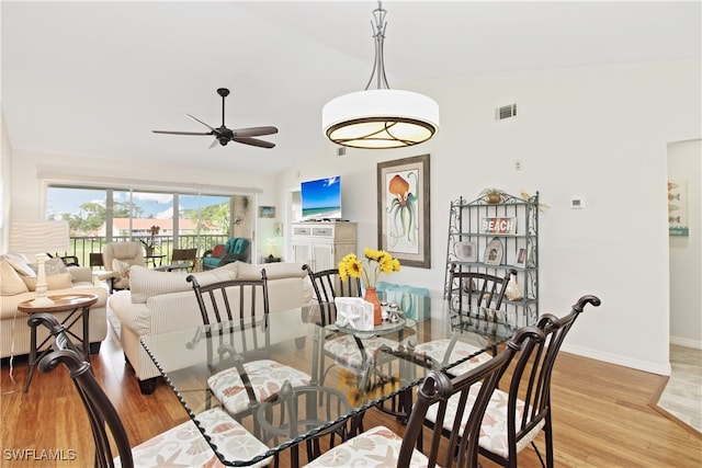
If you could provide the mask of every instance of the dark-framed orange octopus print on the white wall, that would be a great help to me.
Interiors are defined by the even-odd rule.
[[[377,244],[401,265],[431,267],[429,155],[377,163]]]

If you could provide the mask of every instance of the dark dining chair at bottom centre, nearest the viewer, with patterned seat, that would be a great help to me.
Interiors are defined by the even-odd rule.
[[[480,425],[500,376],[520,349],[534,347],[542,341],[543,332],[528,327],[519,330],[497,356],[466,374],[450,378],[431,370],[417,390],[417,402],[401,437],[385,426],[376,426],[326,452],[307,467],[478,467]],[[449,404],[454,402],[455,418],[444,419]],[[423,436],[422,426],[430,409],[435,410],[437,425],[432,434]],[[452,436],[448,438],[441,436],[444,422],[452,426]],[[427,449],[423,441],[429,441]]]

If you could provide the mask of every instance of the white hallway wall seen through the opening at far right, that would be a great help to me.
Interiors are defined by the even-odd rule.
[[[702,350],[702,140],[668,147],[668,176],[688,181],[689,237],[670,237],[670,342]]]

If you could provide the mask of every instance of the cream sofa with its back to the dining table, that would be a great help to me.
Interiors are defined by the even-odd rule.
[[[219,281],[260,278],[265,269],[271,312],[312,304],[313,288],[302,263],[251,265],[244,262],[194,273],[201,285]],[[129,270],[129,290],[114,293],[109,307],[121,322],[121,342],[134,368],[141,393],[151,393],[160,373],[140,338],[202,324],[192,284],[184,272],[159,272],[140,266]],[[174,350],[177,351],[177,350]]]

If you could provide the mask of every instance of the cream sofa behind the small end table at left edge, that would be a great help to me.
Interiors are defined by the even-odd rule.
[[[16,256],[16,255],[14,255]],[[18,311],[18,305],[36,297],[34,289],[35,277],[22,279],[10,261],[0,259],[0,357],[19,356],[30,353],[30,328],[26,324],[29,316]],[[70,266],[66,273],[47,275],[48,295],[60,296],[67,294],[95,294],[98,303],[90,308],[88,332],[90,334],[90,352],[100,351],[100,344],[107,336],[107,289],[93,285],[92,271],[88,266]],[[69,311],[55,313],[63,321]],[[71,331],[82,339],[82,322],[78,320]],[[47,336],[44,327],[37,329],[37,340],[41,343]]]

